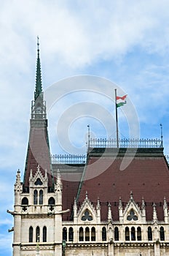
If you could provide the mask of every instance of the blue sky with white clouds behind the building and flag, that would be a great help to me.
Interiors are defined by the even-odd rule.
[[[169,154],[169,1],[0,2],[0,255],[9,256],[13,219],[7,209],[13,209],[18,168],[23,178],[37,35],[44,95],[55,88],[55,104],[47,109],[52,154],[85,154],[88,124],[91,136],[115,138],[115,87],[130,103],[118,110],[120,138],[160,138],[162,124]],[[137,132],[130,134],[133,119]],[[68,148],[62,145],[65,132]]]

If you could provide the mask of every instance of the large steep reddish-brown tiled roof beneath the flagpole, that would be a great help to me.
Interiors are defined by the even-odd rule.
[[[111,203],[112,217],[114,220],[118,220],[119,197],[122,197],[125,208],[132,191],[133,199],[140,207],[142,197],[144,197],[147,220],[152,219],[153,203],[156,203],[157,206],[158,219],[162,220],[164,197],[167,202],[169,201],[169,171],[163,148],[138,148],[135,157],[125,170],[120,170],[120,165],[126,148],[106,148],[106,154],[103,156],[104,150],[105,148],[94,148],[88,154],[87,166],[84,168],[84,178],[78,196],[79,203],[83,202],[87,191],[88,198],[94,205],[98,197],[100,198],[102,220],[107,219],[107,204],[109,202]],[[131,156],[132,152],[133,148],[130,148],[127,158]],[[71,185],[74,187],[73,190],[71,190]],[[63,189],[66,188],[65,186]],[[70,206],[73,203],[75,190],[76,187],[69,183]],[[63,193],[66,194],[66,192]],[[68,204],[66,206],[68,207]]]

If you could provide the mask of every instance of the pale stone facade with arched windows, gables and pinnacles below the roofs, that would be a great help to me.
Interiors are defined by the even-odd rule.
[[[101,204],[94,207],[88,195],[82,206],[74,200],[72,221],[63,221],[62,182],[58,172],[55,191],[47,191],[47,173],[40,167],[30,175],[29,192],[20,182],[20,171],[15,183],[14,256],[32,255],[109,255],[134,256],[169,255],[168,206],[164,199],[164,220],[159,222],[153,205],[152,221],[146,221],[146,206],[135,203],[132,192],[125,208],[119,199],[119,220],[114,221],[108,204],[107,221],[101,221]],[[68,210],[67,210],[68,211]],[[66,246],[63,247],[63,241]]]

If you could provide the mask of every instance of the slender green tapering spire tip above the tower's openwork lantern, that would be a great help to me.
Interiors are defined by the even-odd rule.
[[[42,75],[41,75],[41,62],[39,57],[39,37],[37,37],[37,62],[36,62],[36,88],[34,92],[34,100],[42,93]]]

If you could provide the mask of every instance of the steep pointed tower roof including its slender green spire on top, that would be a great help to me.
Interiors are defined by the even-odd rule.
[[[47,172],[48,188],[53,188],[52,165],[50,159],[50,145],[47,132],[46,102],[43,100],[41,67],[39,59],[39,38],[38,38],[38,58],[36,68],[36,88],[34,101],[31,105],[31,129],[28,141],[27,158],[25,162],[25,173],[23,188],[25,191],[29,187],[30,174],[36,174],[37,166],[43,176]]]

